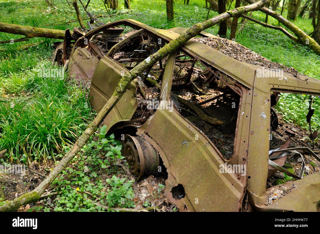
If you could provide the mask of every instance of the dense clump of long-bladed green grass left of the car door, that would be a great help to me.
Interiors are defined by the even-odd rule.
[[[55,160],[62,145],[73,144],[82,132],[91,109],[74,81],[38,77],[36,70],[28,76],[33,96],[0,102],[0,148],[8,149],[11,161],[20,163]]]

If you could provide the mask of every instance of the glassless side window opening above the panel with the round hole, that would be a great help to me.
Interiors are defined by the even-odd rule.
[[[234,153],[240,95],[234,79],[183,53],[176,60],[172,93],[180,114],[203,132],[225,159]],[[174,98],[174,96],[172,97]]]

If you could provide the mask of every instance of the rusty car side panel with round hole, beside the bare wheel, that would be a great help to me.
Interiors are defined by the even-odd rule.
[[[176,110],[158,109],[143,134],[156,141],[165,154],[168,163],[164,163],[168,171],[165,193],[173,203],[178,203],[180,211],[241,209],[244,184],[238,179],[240,175],[220,173],[220,165],[225,163],[220,152]],[[161,156],[163,159],[164,155]],[[181,201],[171,193],[178,184],[183,185],[186,194]]]

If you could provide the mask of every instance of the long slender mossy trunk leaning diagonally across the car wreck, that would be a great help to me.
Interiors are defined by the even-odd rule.
[[[52,170],[52,172],[31,192],[27,192],[12,201],[4,203],[2,206],[0,206],[0,211],[12,211],[18,209],[20,206],[24,204],[29,204],[31,202],[39,200],[45,189],[49,185],[51,185],[52,181],[57,176],[59,176],[59,174],[67,166],[67,164],[80,152],[81,148],[84,146],[86,141],[97,130],[97,127],[100,125],[102,120],[108,115],[111,109],[120,100],[124,92],[127,90],[130,82],[133,79],[135,79],[138,75],[141,75],[142,72],[146,71],[160,59],[169,55],[172,51],[179,49],[186,42],[188,42],[188,40],[198,35],[201,31],[209,27],[212,27],[213,25],[219,24],[228,18],[242,15],[243,13],[246,13],[248,11],[256,10],[262,7],[264,4],[268,3],[269,1],[270,0],[260,0],[254,4],[235,8],[228,12],[224,12],[223,14],[220,14],[212,19],[195,24],[194,26],[189,28],[187,32],[181,34],[175,40],[172,40],[164,47],[159,49],[156,53],[149,56],[143,62],[135,66],[130,72],[124,74],[124,76],[120,79],[115,92],[110,97],[108,102],[100,110],[98,115],[95,117],[92,123],[89,124],[86,130],[84,130],[84,133],[78,138],[75,145],[63,156],[63,158],[60,160],[58,165]]]

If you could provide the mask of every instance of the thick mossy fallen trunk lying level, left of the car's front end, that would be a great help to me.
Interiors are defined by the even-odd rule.
[[[7,24],[3,22],[0,22],[0,32],[25,35],[27,38],[46,37],[52,39],[64,39],[65,34],[64,30],[36,28],[16,24]]]

